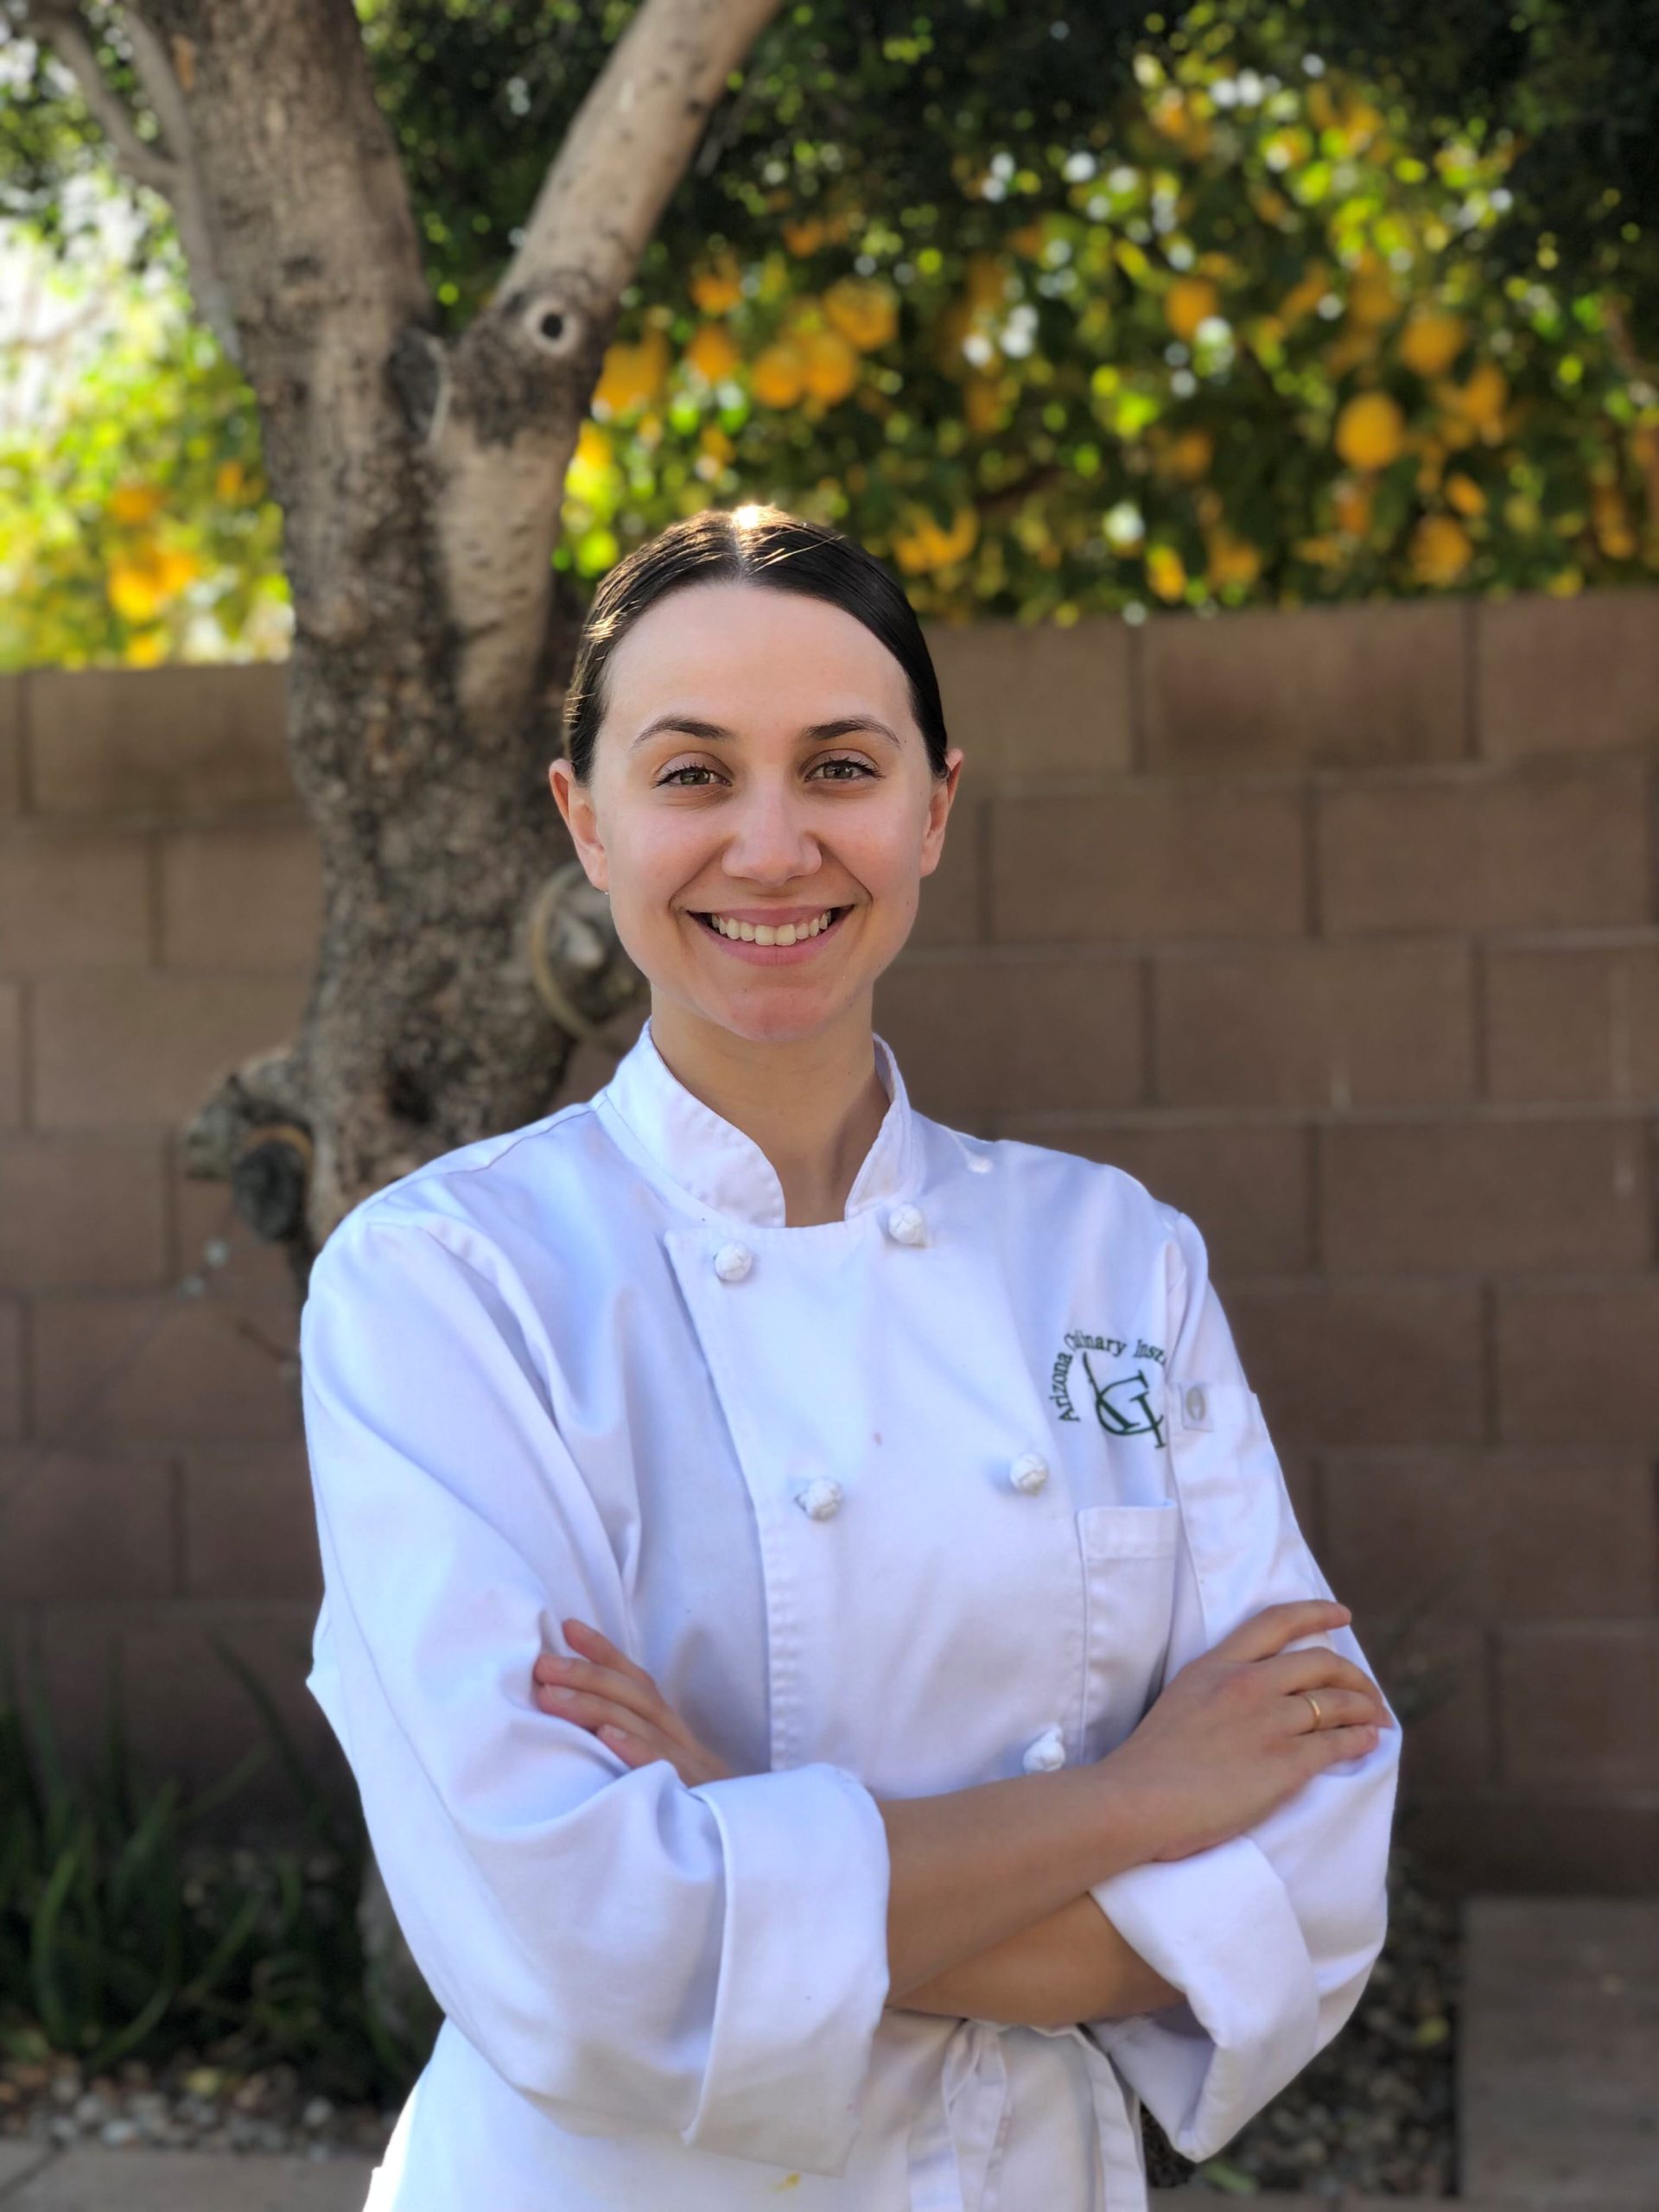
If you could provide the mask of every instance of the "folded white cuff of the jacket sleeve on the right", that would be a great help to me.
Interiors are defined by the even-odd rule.
[[[1318,2051],[1318,1982],[1290,1893],[1250,1836],[1148,1860],[1091,1896],[1186,2004],[1088,2022],[1175,2150],[1208,2159]]]

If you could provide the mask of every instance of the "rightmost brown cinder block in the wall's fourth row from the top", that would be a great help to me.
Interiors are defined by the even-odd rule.
[[[1652,1263],[1641,1121],[1338,1121],[1318,1133],[1340,1274],[1606,1272]]]

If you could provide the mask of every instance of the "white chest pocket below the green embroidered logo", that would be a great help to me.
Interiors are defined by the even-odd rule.
[[[1164,1688],[1175,1606],[1181,1509],[1082,1506],[1084,1568],[1084,1761],[1135,1732]]]

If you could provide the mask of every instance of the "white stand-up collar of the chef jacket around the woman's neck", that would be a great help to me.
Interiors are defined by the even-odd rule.
[[[847,1192],[847,1221],[907,1190],[918,1161],[905,1077],[885,1037],[876,1037],[876,1075],[887,1113]],[[752,1137],[681,1084],[657,1051],[650,1018],[593,1104],[615,1115],[646,1159],[697,1203],[750,1228],[787,1225],[776,1168]]]

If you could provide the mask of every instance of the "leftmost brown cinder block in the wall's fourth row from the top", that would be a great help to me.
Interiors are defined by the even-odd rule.
[[[0,1137],[0,1292],[142,1290],[164,1274],[155,1139]]]

